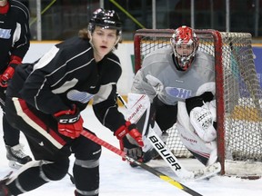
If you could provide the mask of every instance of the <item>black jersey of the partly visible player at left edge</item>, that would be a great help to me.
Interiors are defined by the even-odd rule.
[[[30,44],[29,11],[21,2],[9,0],[6,14],[0,14],[0,74],[11,55],[24,58]]]

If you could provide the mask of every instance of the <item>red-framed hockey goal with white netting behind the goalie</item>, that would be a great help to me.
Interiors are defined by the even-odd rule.
[[[261,89],[257,79],[251,34],[197,30],[198,50],[215,57],[217,155],[221,174],[257,179],[262,175]],[[170,46],[172,29],[139,29],[134,36],[135,70],[143,57]],[[167,146],[177,157],[190,157],[176,124]]]

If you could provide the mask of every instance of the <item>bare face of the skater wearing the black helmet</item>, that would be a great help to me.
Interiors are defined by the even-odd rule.
[[[96,26],[92,34],[95,58],[100,58],[96,59],[96,61],[100,61],[106,54],[112,51],[116,44],[116,40],[116,29],[103,29],[100,26]]]

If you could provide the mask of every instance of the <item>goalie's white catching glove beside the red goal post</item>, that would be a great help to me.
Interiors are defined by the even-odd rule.
[[[216,113],[209,110],[210,103],[202,107],[195,107],[190,112],[190,122],[197,132],[197,135],[205,142],[214,141],[217,138],[217,131],[213,126]],[[215,110],[216,112],[216,110]]]

